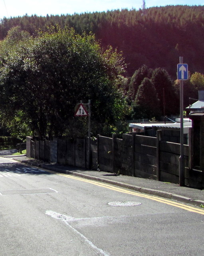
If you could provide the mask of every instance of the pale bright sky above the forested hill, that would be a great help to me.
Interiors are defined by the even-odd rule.
[[[204,0],[145,0],[146,8],[166,5],[204,5]],[[28,14],[37,16],[103,12],[142,8],[143,0],[0,0],[0,19]]]

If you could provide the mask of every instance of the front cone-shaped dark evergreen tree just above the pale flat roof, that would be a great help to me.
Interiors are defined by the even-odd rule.
[[[138,88],[133,103],[132,118],[158,118],[160,116],[159,99],[151,80],[145,78]]]

